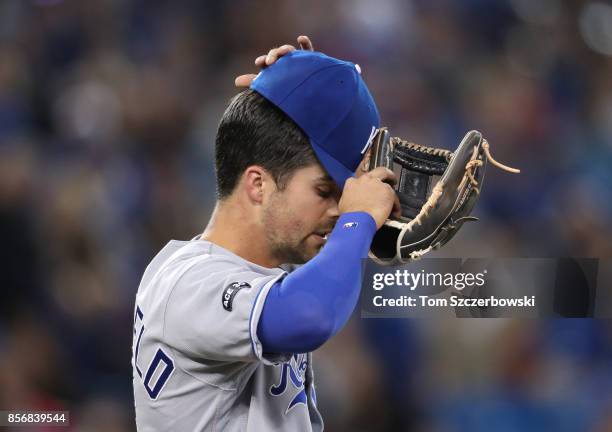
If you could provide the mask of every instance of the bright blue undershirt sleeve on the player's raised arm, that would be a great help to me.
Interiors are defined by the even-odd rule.
[[[257,327],[264,352],[313,351],[346,324],[375,232],[368,213],[343,214],[317,256],[270,288]]]

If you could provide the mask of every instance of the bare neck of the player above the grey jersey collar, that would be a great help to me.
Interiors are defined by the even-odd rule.
[[[268,254],[263,230],[238,200],[217,201],[213,214],[200,237],[216,244],[247,261],[262,267],[274,268],[282,264]]]

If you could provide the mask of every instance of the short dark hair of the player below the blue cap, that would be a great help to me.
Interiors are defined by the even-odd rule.
[[[219,199],[232,194],[250,165],[265,168],[282,190],[297,169],[313,163],[318,160],[308,137],[279,108],[250,89],[231,100],[215,140]]]

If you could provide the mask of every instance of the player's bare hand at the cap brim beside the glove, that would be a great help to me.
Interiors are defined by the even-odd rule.
[[[401,215],[399,199],[391,187],[396,182],[396,175],[385,167],[349,178],[338,203],[340,213],[369,213],[376,222],[376,228],[380,228],[390,214]]]

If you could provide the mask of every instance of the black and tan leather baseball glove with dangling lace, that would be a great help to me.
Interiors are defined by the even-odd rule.
[[[512,173],[520,171],[491,157],[478,131],[468,132],[454,152],[391,137],[386,128],[374,137],[367,170],[385,166],[398,176],[394,186],[402,207],[377,231],[370,257],[380,264],[420,258],[446,244],[467,221],[480,196],[487,161]]]

